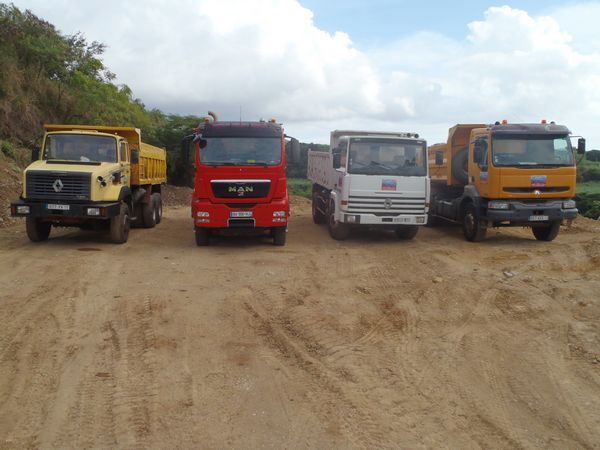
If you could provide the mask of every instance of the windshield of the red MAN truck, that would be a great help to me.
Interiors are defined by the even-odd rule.
[[[277,166],[281,163],[280,138],[210,137],[200,144],[200,162],[208,166]]]

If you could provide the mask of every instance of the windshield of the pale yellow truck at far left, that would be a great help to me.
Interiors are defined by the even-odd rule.
[[[44,159],[81,162],[117,162],[117,141],[110,136],[49,134]]]

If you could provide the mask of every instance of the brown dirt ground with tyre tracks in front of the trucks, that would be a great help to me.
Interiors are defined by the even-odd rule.
[[[0,448],[598,448],[600,224],[0,230]]]

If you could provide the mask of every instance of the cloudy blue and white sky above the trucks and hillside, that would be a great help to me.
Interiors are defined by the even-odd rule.
[[[14,0],[108,48],[148,107],[276,117],[303,141],[555,120],[600,148],[600,2]]]

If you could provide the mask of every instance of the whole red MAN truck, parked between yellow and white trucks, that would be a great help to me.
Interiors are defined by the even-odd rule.
[[[289,218],[283,128],[272,121],[207,120],[188,140],[196,167],[191,212],[196,244],[213,234],[269,233],[284,245]]]

